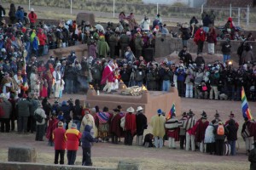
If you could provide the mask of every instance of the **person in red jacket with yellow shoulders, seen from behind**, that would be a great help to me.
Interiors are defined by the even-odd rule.
[[[67,164],[74,165],[77,158],[77,150],[79,150],[79,139],[82,137],[82,133],[77,129],[75,123],[71,128],[67,129]]]

